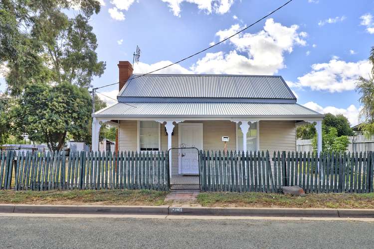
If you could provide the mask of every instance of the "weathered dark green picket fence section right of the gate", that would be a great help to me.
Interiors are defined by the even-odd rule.
[[[306,193],[373,192],[374,153],[200,151],[202,191],[280,192],[298,185]]]

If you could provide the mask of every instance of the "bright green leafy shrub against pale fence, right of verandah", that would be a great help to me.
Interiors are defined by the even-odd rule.
[[[350,141],[347,136],[338,136],[335,127],[330,127],[328,131],[322,131],[322,151],[324,152],[345,152]],[[314,151],[317,151],[317,135],[312,140]]]

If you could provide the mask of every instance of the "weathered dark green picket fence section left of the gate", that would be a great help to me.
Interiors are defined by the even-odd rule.
[[[169,190],[164,152],[0,154],[0,188],[15,190]]]

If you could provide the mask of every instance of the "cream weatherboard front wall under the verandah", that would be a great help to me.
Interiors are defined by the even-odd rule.
[[[230,121],[186,121],[186,123],[203,124],[204,150],[223,150],[222,136],[229,136],[228,150],[236,150],[236,126]],[[161,150],[168,149],[168,136],[165,134],[165,125],[161,124]],[[269,151],[295,151],[296,127],[294,121],[260,121],[260,150]],[[137,121],[120,121],[119,124],[119,150],[136,151],[138,149]],[[178,144],[178,124],[174,128],[172,146]]]

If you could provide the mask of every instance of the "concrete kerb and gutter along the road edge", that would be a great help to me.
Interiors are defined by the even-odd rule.
[[[209,208],[187,206],[0,204],[0,213],[374,218],[374,209]]]

